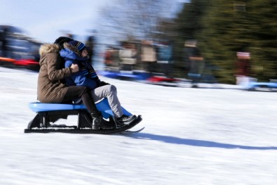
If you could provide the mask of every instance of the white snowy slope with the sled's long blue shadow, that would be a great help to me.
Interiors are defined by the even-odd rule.
[[[0,68],[0,184],[277,183],[276,93],[100,77],[142,115],[142,132],[24,134],[37,76]]]

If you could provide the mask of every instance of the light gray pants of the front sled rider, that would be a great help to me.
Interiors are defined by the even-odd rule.
[[[100,101],[102,98],[107,98],[115,117],[121,117],[121,115],[123,115],[123,110],[114,85],[97,87],[96,89],[91,90],[91,94],[93,95],[93,100],[95,102]]]

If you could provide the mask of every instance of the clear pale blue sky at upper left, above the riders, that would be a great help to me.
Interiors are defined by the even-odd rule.
[[[184,0],[172,0],[173,3]],[[69,31],[84,42],[97,30],[103,6],[111,0],[0,0],[0,25],[13,25],[27,31],[39,42],[53,42]]]

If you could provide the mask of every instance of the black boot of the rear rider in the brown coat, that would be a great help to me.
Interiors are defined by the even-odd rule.
[[[100,112],[90,113],[93,118],[92,129],[115,129],[115,125],[106,122]]]

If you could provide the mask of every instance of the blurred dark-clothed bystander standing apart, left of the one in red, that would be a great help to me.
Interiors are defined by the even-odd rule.
[[[184,51],[189,60],[188,76],[192,80],[192,87],[198,87],[205,68],[205,61],[200,49],[196,46],[195,40],[188,40],[184,43]]]

